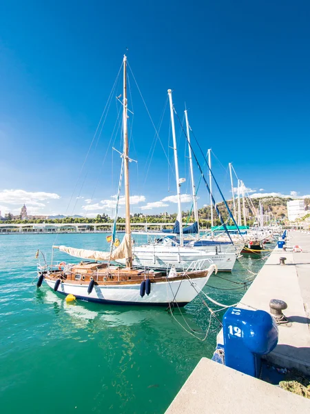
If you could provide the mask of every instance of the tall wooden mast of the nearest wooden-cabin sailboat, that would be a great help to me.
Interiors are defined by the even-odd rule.
[[[129,158],[128,158],[128,128],[127,128],[127,56],[123,58],[123,157],[125,182],[125,233],[131,235],[130,229],[130,186],[129,186]],[[130,240],[131,243],[131,240]],[[132,257],[127,257],[126,267],[132,268]]]

